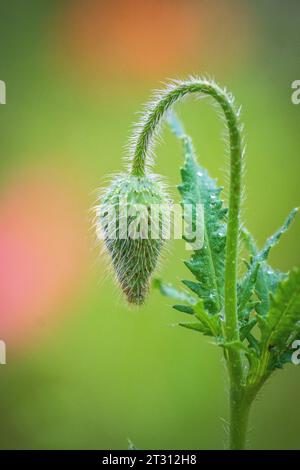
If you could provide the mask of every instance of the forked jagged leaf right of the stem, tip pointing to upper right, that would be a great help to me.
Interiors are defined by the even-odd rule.
[[[238,289],[238,312],[240,317],[243,317],[243,312],[247,308],[247,304],[254,293],[254,289],[260,300],[260,305],[257,306],[258,313],[265,314],[268,311],[269,293],[274,292],[278,281],[284,277],[284,274],[274,271],[267,265],[266,260],[271,248],[278,243],[281,235],[288,230],[297,211],[298,209],[296,208],[290,212],[282,227],[268,238],[265,246],[259,252],[257,251],[255,242],[250,233],[246,229],[242,230],[242,237],[252,255],[252,259],[249,269]]]

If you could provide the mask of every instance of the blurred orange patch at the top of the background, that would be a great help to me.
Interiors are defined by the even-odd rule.
[[[59,26],[59,50],[90,79],[205,72],[212,56],[223,65],[245,54],[249,19],[233,0],[73,1]]]

